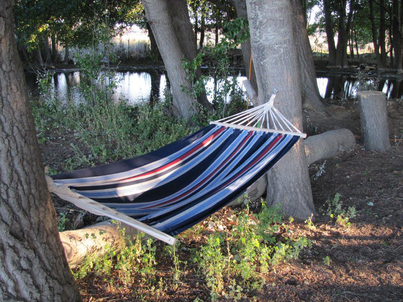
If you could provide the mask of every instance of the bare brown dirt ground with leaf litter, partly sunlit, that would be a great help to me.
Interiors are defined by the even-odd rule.
[[[314,228],[304,222],[285,224],[291,232],[309,237],[312,248],[305,249],[298,260],[280,264],[265,277],[266,283],[250,299],[257,301],[380,301],[403,300],[403,101],[388,101],[388,120],[392,150],[385,154],[366,150],[362,146],[357,104],[348,101],[344,108],[332,107],[335,118],[312,122],[317,131],[346,127],[353,131],[357,145],[340,156],[317,162],[309,167],[312,192],[317,210]],[[306,118],[306,116],[305,116]],[[311,133],[312,134],[312,133]],[[396,138],[396,140],[394,140]],[[45,150],[47,148],[47,150]],[[54,163],[56,154],[51,146],[43,146],[45,162]],[[315,177],[319,167],[324,173]],[[357,216],[349,228],[322,215],[324,202],[341,194],[345,206],[354,205]],[[56,209],[69,207],[55,199]],[[217,215],[224,215],[223,209]],[[84,224],[95,216],[86,215]],[[201,222],[203,223],[203,222]],[[206,231],[207,232],[207,231]],[[203,233],[202,233],[203,234]],[[206,233],[208,236],[208,232]],[[179,236],[179,239],[180,236]],[[184,240],[186,242],[186,240]],[[186,242],[185,247],[197,247],[198,242]],[[157,247],[157,257],[161,247]],[[328,257],[329,261],[324,262]],[[179,258],[190,258],[187,249]],[[172,275],[166,259],[157,259],[158,274],[166,279],[163,294],[139,296],[130,288],[110,290],[107,280],[89,276],[79,281],[85,301],[207,300],[209,289],[188,261],[181,286],[169,288]],[[224,300],[224,299],[223,299]]]

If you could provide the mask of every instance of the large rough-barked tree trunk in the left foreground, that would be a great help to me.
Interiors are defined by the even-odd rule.
[[[47,191],[13,2],[0,2],[0,300],[79,301]]]

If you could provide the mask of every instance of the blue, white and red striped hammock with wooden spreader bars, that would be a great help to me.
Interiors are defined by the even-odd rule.
[[[149,154],[53,175],[49,190],[174,244],[173,235],[238,198],[306,136],[274,97]]]

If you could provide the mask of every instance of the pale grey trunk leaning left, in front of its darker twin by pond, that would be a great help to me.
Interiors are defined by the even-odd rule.
[[[182,67],[185,55],[177,39],[177,32],[169,14],[169,5],[164,0],[143,0],[142,3],[168,72],[172,103],[177,110],[175,114],[189,120],[195,109],[192,97],[183,90],[190,90],[192,84],[188,81],[186,71]]]

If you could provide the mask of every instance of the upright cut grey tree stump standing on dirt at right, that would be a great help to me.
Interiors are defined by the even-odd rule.
[[[361,91],[357,96],[364,147],[378,152],[390,150],[386,95],[378,91]]]

